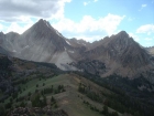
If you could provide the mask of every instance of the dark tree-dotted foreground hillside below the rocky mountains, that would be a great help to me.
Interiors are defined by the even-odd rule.
[[[1,61],[0,76],[3,78],[0,85],[6,82],[6,88],[0,87],[2,116],[153,116],[154,95],[145,89],[151,84],[144,80],[134,83],[146,84],[140,87],[118,75],[103,80],[88,73],[63,72],[47,63],[4,55],[1,55]]]

